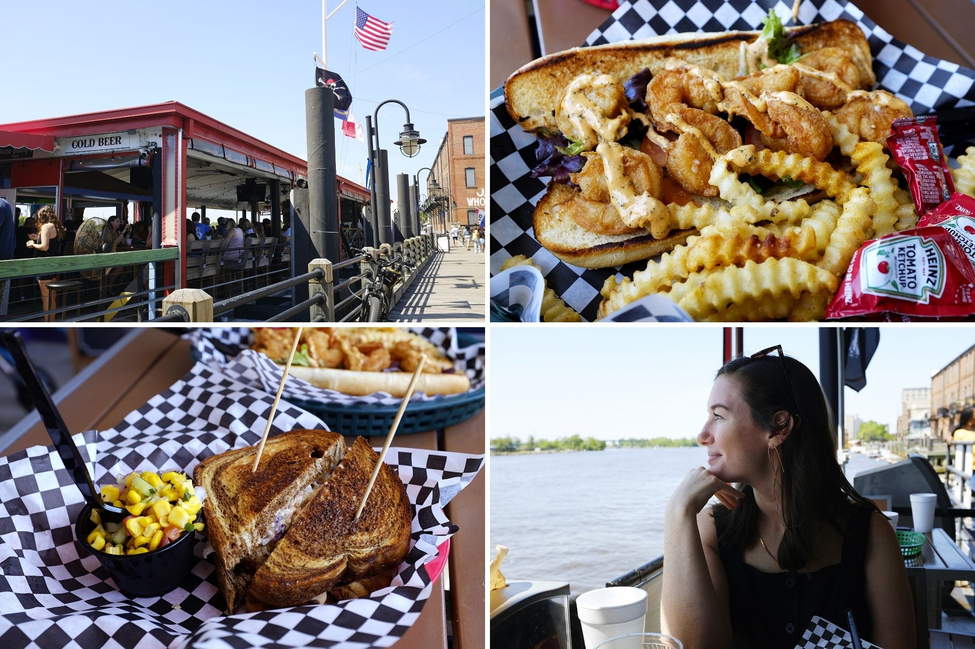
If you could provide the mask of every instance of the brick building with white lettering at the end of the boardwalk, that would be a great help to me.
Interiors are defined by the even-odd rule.
[[[447,121],[447,134],[441,139],[437,158],[430,165],[433,172],[427,175],[424,193],[430,196],[430,183],[436,180],[441,192],[446,191],[457,207],[450,209],[450,204],[447,204],[446,219],[441,211],[443,203],[429,210],[435,231],[444,232],[445,222],[447,230],[451,223],[458,223],[461,228],[477,224],[477,210],[484,210],[486,205],[486,155],[484,117]]]

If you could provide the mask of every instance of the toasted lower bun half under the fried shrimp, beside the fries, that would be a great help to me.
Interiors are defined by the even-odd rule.
[[[567,192],[565,184],[550,182],[545,196],[535,206],[532,226],[535,239],[566,263],[582,268],[607,268],[646,259],[680,246],[697,230],[675,230],[664,239],[643,234],[603,235],[590,232],[559,208]]]

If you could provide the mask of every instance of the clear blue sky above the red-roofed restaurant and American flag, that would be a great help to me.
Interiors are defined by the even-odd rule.
[[[339,2],[329,0],[329,11]],[[379,101],[400,99],[428,140],[419,155],[403,156],[393,146],[403,109],[382,108],[394,200],[395,174],[430,166],[449,118],[485,114],[484,4],[360,0],[364,11],[394,24],[385,52],[353,38],[355,0],[329,20],[328,66],[350,85],[360,122]],[[312,53],[322,51],[321,0],[40,0],[4,2],[2,14],[0,123],[175,99],[306,157],[304,91],[314,84]],[[338,171],[359,182],[366,145],[342,135],[340,124]]]

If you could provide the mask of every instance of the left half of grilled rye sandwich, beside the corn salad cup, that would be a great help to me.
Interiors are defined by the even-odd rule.
[[[214,547],[216,578],[230,613],[237,611],[254,570],[273,548],[260,541],[297,495],[327,476],[345,453],[340,435],[292,431],[268,439],[255,473],[256,448],[207,458],[193,482],[207,490],[203,511]]]

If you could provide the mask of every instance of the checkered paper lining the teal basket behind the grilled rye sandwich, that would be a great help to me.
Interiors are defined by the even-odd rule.
[[[439,347],[449,360],[453,362],[456,371],[463,371],[471,380],[470,391],[479,390],[485,384],[485,344],[477,343],[468,347],[457,346],[457,332],[452,326],[443,327],[410,327],[434,345]],[[260,388],[265,392],[277,394],[281,384],[284,367],[274,363],[263,354],[249,349],[254,342],[254,335],[249,327],[200,327],[187,333],[188,338],[196,348],[201,363],[207,363],[219,368],[221,372],[245,385]],[[237,356],[230,356],[218,350],[214,341],[223,343],[224,351],[239,351]],[[229,349],[227,349],[229,348]],[[303,379],[289,376],[285,382],[282,399],[303,401],[319,401],[344,405],[399,405],[399,397],[389,393],[376,392],[365,397],[343,395],[334,390],[316,387]],[[450,395],[427,396],[421,392],[413,393],[409,401],[434,401],[449,399]]]

